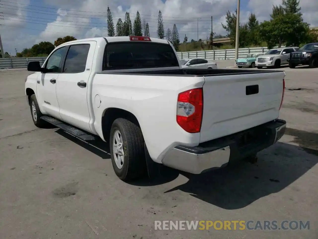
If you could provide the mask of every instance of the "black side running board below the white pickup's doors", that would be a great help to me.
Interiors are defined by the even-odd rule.
[[[66,131],[67,133],[81,139],[81,140],[84,140],[84,141],[89,141],[89,140],[95,140],[96,137],[94,137],[93,135],[91,134],[88,134],[84,131],[81,131],[80,129],[78,128],[75,128],[71,125],[68,125],[66,123],[63,123],[57,119],[54,119],[50,116],[47,116],[47,115],[44,115],[41,117],[42,120],[45,120],[46,122]]]

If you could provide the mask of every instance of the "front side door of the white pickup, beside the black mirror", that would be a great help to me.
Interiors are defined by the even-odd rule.
[[[41,73],[37,79],[37,100],[41,112],[60,119],[59,103],[56,97],[57,79],[62,71],[62,62],[67,47],[56,49],[44,64],[45,73]]]

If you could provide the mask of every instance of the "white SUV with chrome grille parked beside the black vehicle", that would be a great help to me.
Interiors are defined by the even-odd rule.
[[[285,47],[268,50],[264,55],[256,58],[255,66],[258,69],[264,66],[279,68],[280,65],[288,64],[287,59],[289,58],[289,54],[298,48],[299,47]]]

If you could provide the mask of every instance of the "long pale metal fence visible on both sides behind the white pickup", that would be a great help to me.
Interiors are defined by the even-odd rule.
[[[262,54],[267,50],[267,47],[240,48],[239,57],[245,57],[246,54]],[[234,60],[235,49],[178,52],[178,57],[179,59],[199,57],[207,60]],[[28,63],[32,61],[39,61],[42,65],[45,59],[46,57],[0,58],[0,69],[26,68]]]

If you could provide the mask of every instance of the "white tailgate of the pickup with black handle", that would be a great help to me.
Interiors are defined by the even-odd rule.
[[[205,76],[200,142],[264,124],[279,116],[284,71]]]

